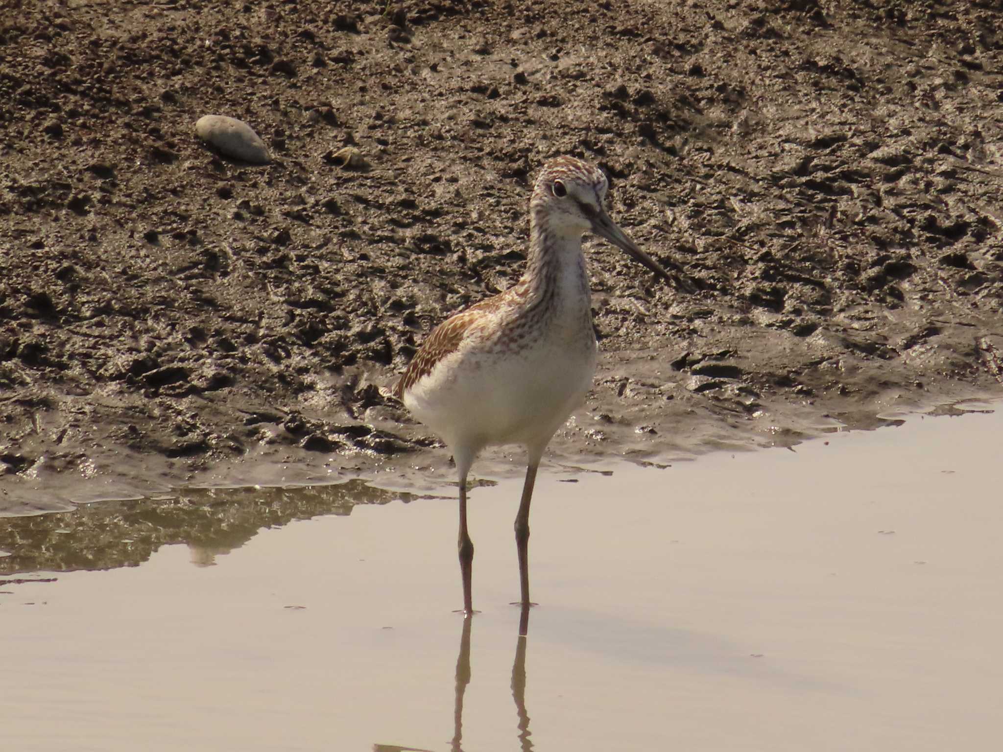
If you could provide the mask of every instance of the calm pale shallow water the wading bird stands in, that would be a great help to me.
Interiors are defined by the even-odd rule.
[[[471,621],[449,498],[351,483],[5,520],[5,746],[988,749],[1001,436],[997,411],[545,469],[526,640],[518,481],[471,492]]]

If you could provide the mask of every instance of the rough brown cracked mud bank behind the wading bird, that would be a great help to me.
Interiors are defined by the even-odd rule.
[[[559,153],[601,164],[614,219],[698,290],[587,244],[603,355],[557,463],[1003,393],[990,3],[13,4],[0,513],[178,483],[440,487],[447,453],[377,387],[519,278]],[[272,162],[206,147],[211,113]]]

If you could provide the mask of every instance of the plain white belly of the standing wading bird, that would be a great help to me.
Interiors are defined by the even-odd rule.
[[[585,399],[596,370],[587,332],[558,329],[504,353],[452,353],[405,396],[450,446],[543,444]]]

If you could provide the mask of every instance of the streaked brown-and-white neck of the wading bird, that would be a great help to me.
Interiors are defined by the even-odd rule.
[[[531,298],[557,295],[590,305],[589,278],[582,255],[582,233],[568,232],[546,212],[530,215],[530,256],[521,281]]]

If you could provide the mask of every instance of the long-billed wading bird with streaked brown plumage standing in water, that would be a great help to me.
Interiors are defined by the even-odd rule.
[[[392,393],[450,447],[459,479],[463,611],[472,614],[473,543],[466,477],[477,453],[521,444],[526,483],[516,516],[520,586],[530,603],[530,501],[551,436],[584,399],[596,368],[589,278],[582,236],[592,232],[665,280],[678,281],[609,218],[602,170],[572,156],[549,161],[530,200],[530,254],[512,288],[437,326]]]

